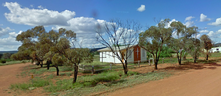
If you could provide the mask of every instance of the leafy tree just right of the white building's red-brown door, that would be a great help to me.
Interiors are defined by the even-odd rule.
[[[165,28],[170,19],[165,19],[158,23],[158,26],[151,26],[139,36],[139,46],[147,50],[154,57],[155,69],[160,58],[163,46],[171,39],[172,29]]]

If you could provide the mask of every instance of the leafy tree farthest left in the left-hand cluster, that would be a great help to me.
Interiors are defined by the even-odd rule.
[[[32,61],[37,61],[43,67],[43,55],[46,53],[41,53],[42,48],[40,48],[39,41],[42,40],[42,37],[45,37],[46,31],[43,26],[36,26],[32,29],[22,32],[16,37],[17,41],[22,42],[22,45],[18,49],[18,54],[24,54],[19,56],[19,58],[14,59],[24,59],[32,58]],[[38,47],[39,46],[39,47]],[[46,48],[46,47],[45,47]],[[15,54],[17,55],[17,54]],[[22,57],[25,56],[25,57]],[[13,56],[18,57],[18,56]]]

